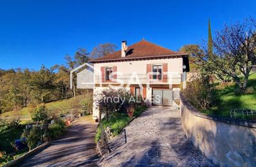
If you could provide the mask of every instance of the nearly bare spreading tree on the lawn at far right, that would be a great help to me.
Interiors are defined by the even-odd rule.
[[[247,87],[251,68],[256,64],[255,28],[253,21],[225,25],[212,40],[212,53],[201,46],[202,52],[197,55],[200,59],[198,65],[206,67],[212,73],[233,78],[243,92]]]

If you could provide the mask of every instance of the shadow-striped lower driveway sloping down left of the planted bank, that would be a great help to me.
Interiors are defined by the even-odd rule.
[[[25,159],[19,166],[97,166],[100,156],[94,141],[96,124],[82,120],[48,148]]]

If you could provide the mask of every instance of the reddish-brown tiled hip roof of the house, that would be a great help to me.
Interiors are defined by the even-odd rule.
[[[163,48],[147,40],[141,40],[131,46],[128,46],[126,57],[121,57],[121,50],[106,55],[105,57],[96,58],[90,62],[109,62],[118,60],[136,60],[139,58],[164,58],[164,57],[181,57],[187,53],[179,51],[171,51],[170,49]]]

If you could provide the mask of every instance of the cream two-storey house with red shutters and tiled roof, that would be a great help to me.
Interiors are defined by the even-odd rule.
[[[147,40],[131,46],[122,41],[122,49],[90,62],[100,71],[95,73],[95,96],[110,86],[121,85],[134,95],[141,94],[149,106],[172,106],[189,71],[186,53],[171,51]],[[96,103],[93,118],[100,118]]]

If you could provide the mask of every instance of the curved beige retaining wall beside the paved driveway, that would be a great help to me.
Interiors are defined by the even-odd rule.
[[[256,122],[199,113],[181,94],[181,126],[188,139],[220,166],[256,166]]]

